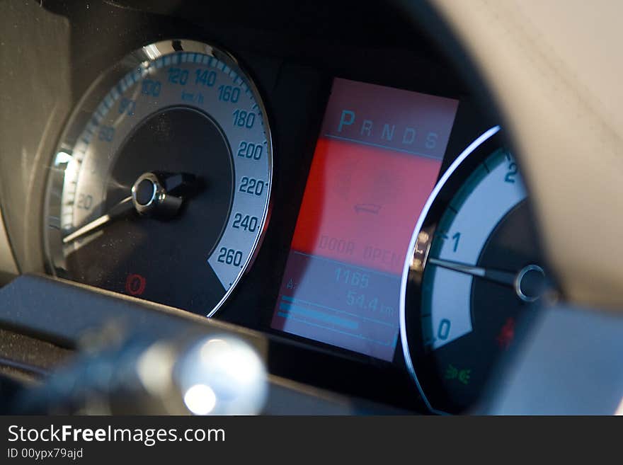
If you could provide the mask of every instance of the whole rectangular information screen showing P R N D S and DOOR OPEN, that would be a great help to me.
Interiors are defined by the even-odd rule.
[[[272,328],[383,360],[458,101],[335,79]]]

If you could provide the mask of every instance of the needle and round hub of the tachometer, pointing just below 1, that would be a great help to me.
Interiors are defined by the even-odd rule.
[[[545,272],[539,265],[527,265],[518,272],[508,272],[432,257],[428,258],[428,263],[513,287],[517,297],[525,302],[539,299],[545,289]]]

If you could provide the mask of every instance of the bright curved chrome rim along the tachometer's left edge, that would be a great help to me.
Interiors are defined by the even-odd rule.
[[[426,258],[428,257],[428,250],[430,248],[430,236],[432,236],[435,231],[436,222],[438,220],[438,215],[441,211],[433,212],[433,209],[438,207],[440,204],[440,197],[447,197],[447,200],[456,193],[459,185],[467,178],[471,171],[471,166],[467,166],[469,162],[472,160],[480,162],[481,159],[484,159],[484,156],[491,153],[494,148],[500,147],[501,142],[499,132],[501,131],[501,127],[494,126],[491,129],[487,130],[483,134],[481,134],[478,138],[471,142],[469,146],[462,151],[457,159],[452,162],[452,164],[447,168],[445,173],[441,176],[438,183],[433,188],[433,192],[430,193],[428,200],[422,209],[420,216],[418,217],[418,221],[416,223],[416,227],[413,230],[413,236],[411,236],[411,241],[408,246],[408,251],[406,254],[406,259],[404,263],[404,268],[401,277],[401,286],[400,286],[400,303],[399,303],[399,318],[400,318],[400,340],[401,340],[401,348],[404,356],[404,362],[406,365],[406,369],[408,374],[413,379],[416,388],[425,404],[425,407],[431,413],[439,414],[439,415],[447,415],[448,412],[445,411],[444,408],[440,408],[438,405],[433,405],[434,402],[430,400],[430,396],[427,395],[426,390],[423,387],[423,383],[418,379],[418,373],[415,365],[413,364],[412,354],[414,352],[409,339],[408,333],[408,321],[409,317],[415,318],[413,315],[409,315],[407,313],[407,308],[411,308],[410,304],[421,305],[420,293],[419,289],[421,286],[422,275],[426,266]],[[487,147],[487,149],[484,149]],[[491,150],[489,150],[491,149]],[[481,154],[480,156],[478,154]],[[464,171],[462,176],[458,176],[459,172]],[[457,182],[458,181],[458,182]],[[444,202],[445,203],[445,202]],[[443,205],[445,207],[445,205]],[[423,236],[418,241],[420,236]],[[416,301],[411,302],[410,294],[408,294],[409,283],[413,283],[413,287],[418,289],[418,295]],[[411,311],[413,309],[411,308]],[[419,318],[419,316],[417,316]],[[412,335],[411,343],[414,340],[419,340],[421,338],[421,334]]]

